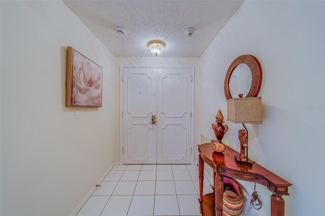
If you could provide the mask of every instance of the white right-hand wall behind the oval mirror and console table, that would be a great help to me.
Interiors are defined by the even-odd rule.
[[[263,124],[246,124],[249,154],[293,184],[285,215],[325,215],[324,8],[323,1],[245,1],[200,58],[199,133],[208,138],[216,111],[226,118],[223,82],[232,61],[252,54],[261,63]],[[225,124],[224,142],[239,150],[242,125]],[[243,215],[270,215],[271,192],[256,186],[257,211],[249,206],[253,184],[244,187]]]

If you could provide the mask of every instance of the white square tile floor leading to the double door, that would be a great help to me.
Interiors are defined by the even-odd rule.
[[[204,172],[204,194],[212,178]],[[200,215],[194,165],[115,165],[77,216]]]

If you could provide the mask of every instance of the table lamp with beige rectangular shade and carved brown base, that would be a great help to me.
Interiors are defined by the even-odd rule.
[[[244,123],[262,124],[262,98],[245,97],[227,100],[227,119],[234,123],[242,123],[245,130],[238,131],[240,154],[235,155],[238,164],[252,166],[254,161],[248,159],[248,131]]]

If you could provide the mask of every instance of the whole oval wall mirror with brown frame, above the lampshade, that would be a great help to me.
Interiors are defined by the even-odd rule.
[[[232,99],[232,95],[239,97],[238,94],[256,97],[261,85],[262,69],[258,60],[252,55],[241,55],[231,63],[225,75],[224,95],[227,100]]]

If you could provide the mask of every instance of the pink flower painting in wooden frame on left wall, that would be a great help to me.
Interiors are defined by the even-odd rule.
[[[67,47],[66,106],[102,107],[103,68]]]

